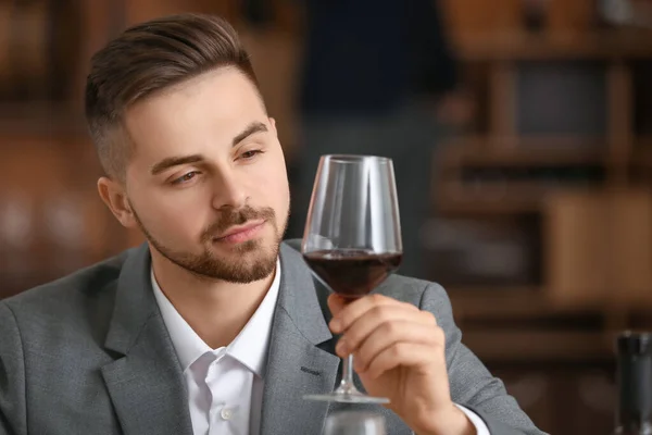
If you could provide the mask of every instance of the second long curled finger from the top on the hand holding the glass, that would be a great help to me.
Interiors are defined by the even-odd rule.
[[[355,370],[363,373],[372,361],[386,349],[398,344],[415,344],[432,349],[443,349],[443,331],[439,327],[426,326],[414,322],[385,323],[354,351]]]

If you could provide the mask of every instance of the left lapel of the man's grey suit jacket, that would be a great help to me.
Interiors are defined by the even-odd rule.
[[[192,434],[181,368],[150,283],[147,245],[127,258],[106,337],[121,357],[102,376],[125,435]]]

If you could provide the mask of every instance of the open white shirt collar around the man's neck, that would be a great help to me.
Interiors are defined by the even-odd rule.
[[[266,356],[272,335],[272,321],[280,287],[280,261],[277,260],[274,281],[263,301],[242,331],[226,348],[227,355],[238,360],[260,377],[264,377],[265,375]],[[211,349],[197,335],[163,294],[154,277],[153,269],[150,271],[150,277],[163,322],[167,327],[181,368],[186,372],[202,355],[213,352],[214,349]]]

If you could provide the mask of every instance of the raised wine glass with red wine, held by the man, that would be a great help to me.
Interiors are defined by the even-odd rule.
[[[401,263],[403,247],[391,159],[323,156],[313,186],[301,252],[314,275],[344,300],[367,295]],[[388,403],[353,384],[353,356],[343,359],[342,381],[310,400]]]

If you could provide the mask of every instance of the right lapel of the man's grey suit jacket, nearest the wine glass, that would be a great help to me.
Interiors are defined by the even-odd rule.
[[[305,394],[330,393],[340,359],[331,349],[327,289],[315,286],[301,254],[281,245],[281,282],[265,372],[261,435],[319,434],[328,402]]]

